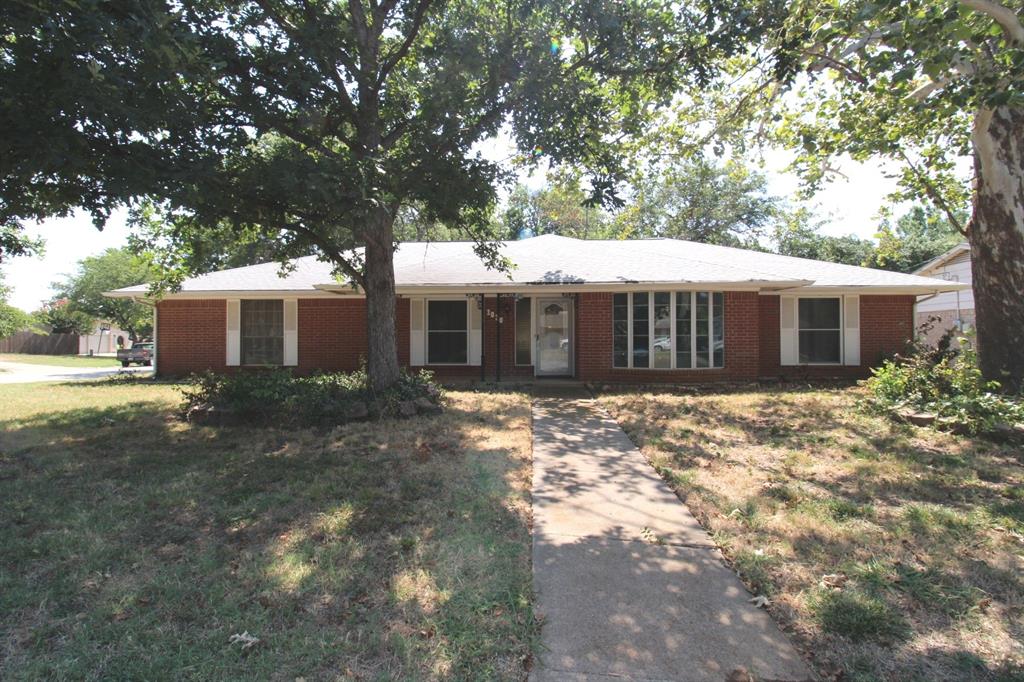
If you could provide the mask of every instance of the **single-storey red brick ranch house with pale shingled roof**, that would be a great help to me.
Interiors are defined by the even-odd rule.
[[[922,295],[957,283],[676,240],[543,236],[502,247],[487,269],[471,243],[395,252],[402,366],[442,379],[599,382],[860,377],[902,349]],[[283,366],[354,370],[366,301],[299,258],[184,282],[157,305],[157,372]],[[146,287],[111,292],[143,297]]]

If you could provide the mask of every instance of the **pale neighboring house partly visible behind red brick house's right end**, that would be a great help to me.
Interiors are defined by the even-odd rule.
[[[916,327],[920,328],[929,319],[938,318],[924,335],[927,342],[934,344],[951,329],[966,331],[974,328],[971,247],[967,242],[957,244],[941,256],[933,258],[914,270],[913,273],[967,285],[967,289],[922,296],[918,299],[918,312],[914,321]]]

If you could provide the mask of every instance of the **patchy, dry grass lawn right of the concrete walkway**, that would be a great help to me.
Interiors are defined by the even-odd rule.
[[[859,388],[600,402],[826,679],[1024,679],[1024,447]]]

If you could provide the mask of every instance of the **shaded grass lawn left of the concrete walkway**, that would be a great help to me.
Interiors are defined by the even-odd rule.
[[[285,431],[0,386],[0,679],[524,679],[528,399],[450,400]]]

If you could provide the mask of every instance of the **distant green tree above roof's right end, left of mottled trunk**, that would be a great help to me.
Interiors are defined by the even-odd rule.
[[[966,222],[966,216],[958,216]],[[935,207],[914,206],[893,225],[884,220],[876,235],[879,246],[866,264],[912,272],[964,241],[949,218]]]

